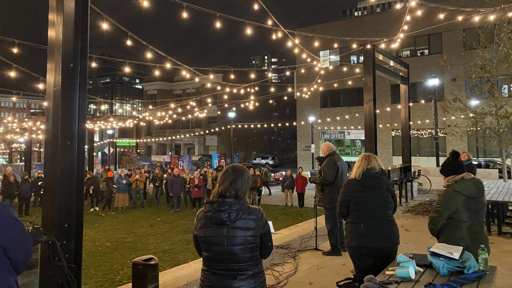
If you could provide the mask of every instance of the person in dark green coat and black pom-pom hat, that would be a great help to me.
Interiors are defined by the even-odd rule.
[[[453,150],[440,168],[445,189],[429,219],[429,231],[439,243],[462,246],[478,259],[480,245],[490,255],[485,232],[485,189],[482,180],[465,172],[460,153]]]

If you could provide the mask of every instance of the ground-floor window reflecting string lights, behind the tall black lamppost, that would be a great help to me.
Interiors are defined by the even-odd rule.
[[[420,133],[420,130],[421,131]],[[425,132],[426,131],[426,132]],[[446,157],[446,132],[439,131],[439,156]],[[392,131],[393,156],[402,156],[402,136],[400,130]],[[434,129],[411,129],[411,155],[413,157],[435,157]]]

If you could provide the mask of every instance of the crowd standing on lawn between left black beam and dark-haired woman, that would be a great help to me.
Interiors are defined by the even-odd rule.
[[[144,209],[148,194],[152,195],[157,207],[160,206],[162,195],[165,195],[170,212],[179,212],[182,209],[182,197],[185,207],[190,204],[192,210],[196,211],[196,207],[202,207],[204,198],[210,197],[211,191],[217,186],[218,175],[223,169],[222,165],[215,169],[205,166],[193,174],[189,169],[180,174],[180,169],[172,164],[167,172],[164,172],[158,163],[153,172],[137,167],[134,170],[122,170],[114,177],[109,165],[105,164],[103,169],[98,169],[95,174],[92,171],[86,173],[83,181],[84,201],[87,204],[89,200],[90,211],[99,211],[101,216],[105,216],[105,209],[108,209],[106,213],[115,214],[112,211],[112,198],[115,199],[114,208],[129,208],[131,202],[132,209],[137,209],[137,204]],[[103,203],[101,209],[100,203]]]

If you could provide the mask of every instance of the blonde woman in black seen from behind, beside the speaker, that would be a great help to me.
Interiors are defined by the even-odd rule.
[[[377,156],[364,153],[338,197],[345,223],[345,245],[354,264],[354,281],[377,276],[396,257],[400,235],[396,225],[396,194]]]

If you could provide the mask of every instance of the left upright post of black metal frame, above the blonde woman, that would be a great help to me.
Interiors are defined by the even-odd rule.
[[[363,98],[365,114],[365,152],[377,155],[377,102],[375,91],[375,45],[363,48],[365,61],[362,64],[364,71]]]

